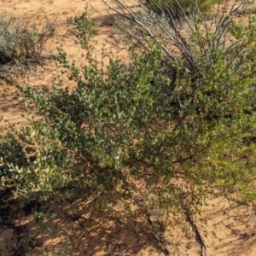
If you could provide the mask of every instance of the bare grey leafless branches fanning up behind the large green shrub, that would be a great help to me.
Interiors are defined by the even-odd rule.
[[[204,13],[197,1],[191,3],[191,13],[187,14],[179,0],[166,3],[164,0],[148,0],[147,4],[137,0],[139,10],[131,9],[123,0],[113,0],[114,5],[102,0],[109,9],[112,9],[122,19],[129,20],[133,26],[125,28],[119,26],[123,32],[135,39],[144,49],[148,48],[148,39],[154,39],[160,43],[171,62],[182,59],[186,63],[186,69],[191,73],[196,69],[195,55],[191,49],[191,36],[193,34],[204,35],[204,40],[199,45],[201,55],[206,59],[209,52],[222,49],[228,53],[229,45],[226,45],[229,38],[229,27],[231,20],[247,9],[247,0],[235,0],[230,3],[218,2],[217,14],[212,12]],[[149,5],[148,5],[149,4]],[[174,6],[179,14],[173,10]],[[152,9],[159,10],[158,13]],[[208,15],[211,14],[211,15]],[[202,20],[199,23],[198,20]],[[201,24],[201,25],[200,25]],[[215,39],[212,41],[212,35]],[[178,54],[175,51],[178,49]]]

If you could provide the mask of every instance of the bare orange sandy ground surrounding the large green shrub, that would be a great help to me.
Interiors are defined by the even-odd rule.
[[[44,55],[49,57],[51,51],[56,52],[56,47],[63,44],[63,49],[71,60],[83,62],[82,51],[78,44],[74,43],[73,23],[71,17],[81,15],[87,1],[83,0],[1,0],[1,11],[8,11],[16,18],[22,18],[37,22],[38,26],[44,25],[47,20],[55,20],[55,34],[45,46]],[[119,32],[113,26],[102,19],[107,14],[105,5],[101,0],[91,1],[88,14],[96,19],[98,34],[93,38],[96,47],[96,55],[100,56],[102,46],[111,51],[120,60],[127,59],[125,46],[114,47],[113,38]],[[98,11],[96,11],[98,10]],[[41,86],[50,90],[61,72],[55,67],[55,63],[49,58],[44,61],[43,66],[33,65],[30,71],[22,75],[14,76],[14,83],[29,86]],[[67,79],[67,86],[73,86]],[[68,84],[69,83],[69,84]],[[3,115],[1,129],[7,128],[7,123],[24,122],[19,111],[20,105],[15,95],[15,86],[6,80],[0,80],[0,114]],[[4,197],[5,195],[0,195]],[[228,201],[223,198],[209,199],[208,207],[202,207],[201,221],[195,218],[195,227],[191,224],[170,226],[166,230],[165,247],[170,255],[218,255],[218,256],[254,256],[256,255],[256,218],[254,212],[247,207],[231,209]],[[47,208],[48,207],[48,208]],[[55,206],[56,207],[56,206]],[[58,255],[61,248],[75,247],[78,255],[165,255],[160,252],[154,239],[147,236],[136,236],[132,230],[121,230],[116,224],[109,222],[86,224],[86,218],[73,216],[75,207],[80,207],[79,201],[67,202],[59,206],[59,213],[55,219],[46,227],[51,234],[49,238],[40,237],[38,232],[38,219],[32,217],[33,211],[47,208],[51,211],[53,206],[40,206],[38,203],[30,205],[3,204],[0,206],[0,255],[25,255],[24,248],[29,249],[27,255]],[[10,218],[15,218],[15,221]],[[19,237],[26,235],[25,241]],[[34,238],[29,238],[29,235]],[[18,242],[19,241],[19,242]],[[202,241],[206,250],[202,251]],[[21,246],[20,246],[20,243]],[[33,247],[33,249],[31,249]],[[44,254],[38,250],[53,252]]]

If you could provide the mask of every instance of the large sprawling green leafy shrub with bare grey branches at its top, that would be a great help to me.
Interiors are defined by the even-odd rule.
[[[179,6],[179,17],[115,3],[119,28],[137,43],[131,63],[104,51],[94,59],[94,23],[75,17],[88,64],[78,67],[59,48],[53,58],[76,87],[20,92],[29,123],[1,134],[2,189],[25,201],[79,197],[89,223],[111,218],[168,253],[168,222],[195,226],[213,190],[255,207],[256,20],[234,19],[245,2],[213,16]]]

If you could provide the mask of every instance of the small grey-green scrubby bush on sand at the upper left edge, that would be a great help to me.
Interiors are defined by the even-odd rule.
[[[53,36],[54,23],[47,23],[40,30],[8,13],[0,15],[0,79],[13,85],[13,77],[29,68],[28,63],[42,65],[45,44]]]

